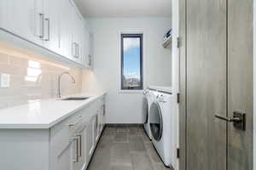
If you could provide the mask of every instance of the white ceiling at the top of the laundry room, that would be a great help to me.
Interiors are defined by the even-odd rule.
[[[74,0],[84,17],[171,17],[172,0]]]

